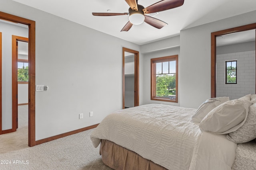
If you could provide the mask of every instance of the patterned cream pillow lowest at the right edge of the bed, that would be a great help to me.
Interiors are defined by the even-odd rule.
[[[244,124],[226,137],[234,143],[246,143],[256,138],[256,103],[249,107]]]

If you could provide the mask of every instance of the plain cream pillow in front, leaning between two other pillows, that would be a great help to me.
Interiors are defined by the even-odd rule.
[[[226,134],[236,131],[246,121],[251,102],[247,100],[230,100],[212,109],[201,121],[201,131],[214,134]]]

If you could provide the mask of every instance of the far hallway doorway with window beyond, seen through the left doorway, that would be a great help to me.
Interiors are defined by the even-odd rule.
[[[12,111],[16,129],[28,126],[28,38],[12,35]]]

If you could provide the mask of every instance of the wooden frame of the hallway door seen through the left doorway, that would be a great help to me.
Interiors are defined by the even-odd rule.
[[[12,35],[12,132],[18,128],[18,41],[28,38]]]

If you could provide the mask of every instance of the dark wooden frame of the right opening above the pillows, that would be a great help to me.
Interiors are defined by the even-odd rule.
[[[216,31],[211,33],[211,98],[216,97],[216,37],[220,35],[229,34],[229,33],[248,31],[250,29],[256,29],[256,23],[243,25],[240,27],[234,27],[230,29],[224,29],[221,31]],[[255,90],[256,90],[256,86],[255,86]]]

